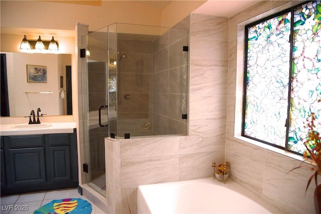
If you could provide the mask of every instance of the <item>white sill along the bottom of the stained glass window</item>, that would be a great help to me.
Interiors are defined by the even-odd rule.
[[[263,148],[263,149],[267,149],[267,150],[270,150],[270,151],[279,153],[279,154],[281,154],[281,155],[284,155],[284,156],[287,156],[287,157],[290,157],[290,158],[293,158],[293,159],[296,159],[296,160],[304,161],[304,162],[306,162],[306,163],[315,165],[312,161],[310,161],[310,160],[308,160],[308,159],[305,160],[305,159],[303,158],[303,156],[301,156],[301,155],[294,154],[294,153],[292,153],[292,152],[288,152],[288,151],[285,151],[285,150],[276,148],[276,147],[274,147],[274,146],[270,146],[270,145],[267,145],[267,144],[264,144],[264,143],[261,143],[261,142],[258,142],[258,141],[255,141],[255,140],[246,138],[246,137],[242,137],[242,136],[234,136],[234,137],[235,137],[236,139],[238,139],[238,140],[241,140],[241,141],[244,141],[244,142],[247,142],[247,143],[251,143],[251,144],[256,145],[256,146],[259,146],[259,147],[261,147],[261,148]]]

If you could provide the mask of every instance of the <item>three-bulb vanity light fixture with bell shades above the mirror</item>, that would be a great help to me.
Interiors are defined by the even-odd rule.
[[[58,52],[58,43],[52,37],[51,41],[42,41],[39,36],[38,40],[27,40],[26,35],[20,44],[20,51],[27,53],[55,53]]]

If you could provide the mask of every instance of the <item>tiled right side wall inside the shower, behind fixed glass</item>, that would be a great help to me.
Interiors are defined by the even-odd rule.
[[[188,31],[170,29],[154,41],[154,135],[186,134],[188,93]]]

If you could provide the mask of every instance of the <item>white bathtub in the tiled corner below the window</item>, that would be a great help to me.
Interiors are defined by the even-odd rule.
[[[138,213],[282,213],[235,181],[213,178],[140,185]]]

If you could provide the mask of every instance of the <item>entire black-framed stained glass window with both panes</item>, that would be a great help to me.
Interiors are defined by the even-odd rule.
[[[245,26],[242,136],[304,152],[304,122],[321,116],[320,40],[320,1]]]

